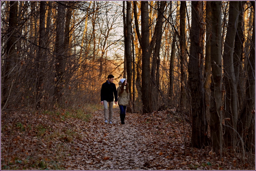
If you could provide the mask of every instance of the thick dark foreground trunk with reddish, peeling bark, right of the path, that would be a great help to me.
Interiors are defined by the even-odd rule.
[[[202,148],[208,145],[205,92],[203,85],[203,4],[192,1],[191,45],[188,64],[188,80],[192,106],[192,145]]]

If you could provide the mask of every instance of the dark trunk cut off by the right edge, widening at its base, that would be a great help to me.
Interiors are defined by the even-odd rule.
[[[255,1],[253,5],[253,26],[255,26]],[[252,44],[247,64],[246,99],[241,111],[239,132],[244,138],[247,151],[255,151],[255,27],[252,31]]]

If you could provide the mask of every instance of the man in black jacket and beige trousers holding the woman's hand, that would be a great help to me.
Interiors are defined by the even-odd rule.
[[[105,124],[112,124],[113,118],[113,102],[115,96],[115,104],[117,104],[117,91],[113,83],[114,76],[108,75],[108,80],[102,84],[100,91],[100,103],[104,105]],[[109,118],[108,118],[108,104],[109,104]],[[108,122],[109,121],[109,122]]]

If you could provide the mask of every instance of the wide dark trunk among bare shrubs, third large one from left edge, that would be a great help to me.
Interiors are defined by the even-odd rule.
[[[64,63],[65,53],[64,53],[64,29],[65,29],[65,2],[58,4],[57,9],[57,20],[56,20],[56,40],[55,40],[55,56],[56,56],[56,73],[55,73],[55,97],[58,101],[61,100],[63,95],[63,85],[64,85],[64,73],[65,73],[65,66]]]

